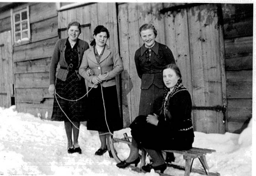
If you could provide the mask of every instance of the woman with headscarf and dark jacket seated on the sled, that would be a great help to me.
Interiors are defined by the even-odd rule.
[[[127,160],[117,164],[125,168],[139,163],[138,151],[145,148],[153,163],[142,167],[164,172],[167,164],[161,150],[189,150],[194,142],[194,129],[191,120],[192,101],[188,90],[182,85],[181,72],[174,64],[163,71],[165,84],[161,112],[148,116],[138,116],[131,124],[132,146]]]

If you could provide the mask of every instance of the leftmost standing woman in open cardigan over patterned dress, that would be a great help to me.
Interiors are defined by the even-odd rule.
[[[59,39],[56,42],[49,68],[49,93],[54,94],[56,92],[51,120],[64,121],[68,138],[68,153],[81,154],[78,136],[80,121],[87,120],[85,118],[85,97],[78,101],[70,101],[80,99],[87,93],[84,78],[79,75],[78,69],[81,65],[82,56],[89,45],[84,40],[78,39],[80,34],[80,23],[70,22],[68,24],[68,38]],[[60,68],[56,75],[58,64]]]

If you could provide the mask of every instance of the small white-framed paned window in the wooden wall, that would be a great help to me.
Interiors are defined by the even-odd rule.
[[[26,22],[27,22],[27,25],[28,25],[28,28],[26,29],[28,31],[28,39],[25,39],[25,40],[21,40],[20,41],[15,41],[15,15],[16,14],[21,14],[22,12],[26,12],[26,15],[27,15],[27,19],[26,19]],[[12,43],[14,43],[14,45],[22,45],[22,44],[25,44],[25,43],[30,43],[31,42],[31,29],[30,29],[30,15],[29,15],[29,6],[26,6],[25,8],[22,8],[22,9],[18,9],[16,11],[14,11],[13,9],[11,9],[11,23],[12,23]],[[22,36],[22,21],[19,21],[19,23],[21,24],[21,36]]]

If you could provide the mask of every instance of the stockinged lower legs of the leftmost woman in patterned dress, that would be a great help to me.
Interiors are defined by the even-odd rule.
[[[74,125],[72,124],[74,123]],[[64,125],[65,125],[65,131],[67,134],[67,138],[68,138],[68,148],[73,148],[73,145],[75,148],[79,147],[78,144],[78,136],[79,136],[79,126],[80,126],[80,122],[79,121],[65,121]],[[73,138],[74,138],[74,144],[72,141],[72,130],[73,130]]]

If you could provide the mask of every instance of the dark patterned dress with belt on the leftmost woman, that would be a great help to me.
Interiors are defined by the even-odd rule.
[[[54,121],[86,121],[86,101],[87,96],[80,99],[87,93],[85,87],[85,80],[82,78],[79,73],[79,57],[78,57],[78,42],[73,48],[69,41],[67,40],[66,49],[65,49],[65,61],[68,63],[69,72],[67,79],[62,81],[61,79],[56,79],[56,97],[54,98],[54,108],[52,112],[51,120]],[[67,69],[61,67],[62,69]],[[64,99],[62,99],[62,98]],[[65,100],[67,99],[67,100]],[[69,101],[77,100],[78,101]],[[67,116],[68,118],[67,118]]]

